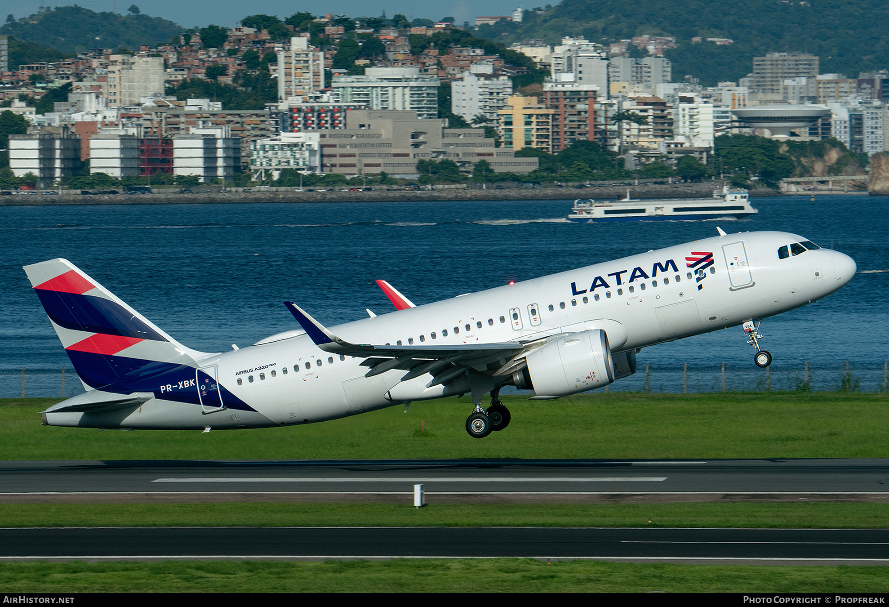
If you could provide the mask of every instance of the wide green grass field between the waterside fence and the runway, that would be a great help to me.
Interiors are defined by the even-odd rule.
[[[0,459],[880,458],[889,396],[845,393],[612,393],[504,398],[512,423],[483,440],[468,397],[300,427],[119,432],[44,427],[54,399],[0,399]],[[424,431],[420,432],[422,422]]]

